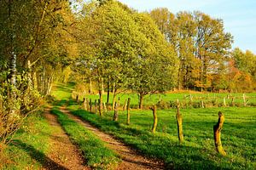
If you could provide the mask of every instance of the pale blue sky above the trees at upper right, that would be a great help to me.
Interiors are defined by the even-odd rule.
[[[234,37],[233,48],[256,54],[256,0],[119,0],[140,12],[154,8],[179,11],[199,10],[224,20],[224,29]]]

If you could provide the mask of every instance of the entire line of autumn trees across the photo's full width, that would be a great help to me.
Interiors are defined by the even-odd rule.
[[[231,49],[233,37],[223,20],[199,11],[172,14],[167,8],[139,13],[115,0],[79,3],[0,2],[5,111],[32,110],[38,100],[33,96],[49,95],[54,80],[65,82],[70,74],[96,82],[101,101],[103,90],[113,92],[113,104],[125,90],[137,93],[140,108],[145,95],[174,88],[255,89],[256,57]],[[10,106],[13,99],[20,104]]]

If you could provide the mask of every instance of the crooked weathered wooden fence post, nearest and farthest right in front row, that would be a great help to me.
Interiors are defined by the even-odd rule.
[[[221,140],[220,140],[220,134],[221,134],[220,132],[222,130],[223,124],[224,124],[224,115],[222,114],[222,112],[218,111],[218,122],[216,125],[213,126],[214,143],[218,153],[221,154],[222,156],[226,156],[227,154],[224,151],[221,144]]]

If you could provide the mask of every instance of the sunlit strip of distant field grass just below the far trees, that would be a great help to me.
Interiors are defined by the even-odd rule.
[[[73,99],[75,95],[79,94],[78,92],[73,92]],[[194,91],[185,91],[181,92],[170,92],[167,94],[152,94],[146,95],[143,99],[144,105],[155,105],[159,102],[159,100],[166,102],[166,105],[169,105],[170,102],[175,102],[177,99],[183,103],[184,105],[189,105],[190,96],[192,98],[192,102],[199,103],[203,100],[206,104],[211,102],[214,105],[224,105],[224,98],[226,105],[232,105],[232,99],[234,98],[234,103],[236,106],[243,105],[243,94],[225,94],[225,93],[200,93]],[[256,94],[255,93],[248,93],[245,94],[247,105],[256,106]],[[95,99],[99,99],[98,94],[80,94],[79,99],[82,100],[83,98],[91,99],[92,102]],[[120,104],[124,105],[125,99],[131,98],[131,107],[137,108],[138,107],[138,96],[137,94],[118,94],[117,99],[120,98]],[[107,94],[103,94],[103,101],[107,102]],[[109,102],[112,104],[113,95],[110,94]],[[212,105],[211,105],[212,106]]]

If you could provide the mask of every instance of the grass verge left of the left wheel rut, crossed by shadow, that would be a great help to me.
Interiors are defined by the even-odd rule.
[[[53,132],[41,113],[26,118],[12,142],[3,151],[3,169],[40,169],[49,161],[49,138]],[[1,166],[0,166],[1,167]]]

